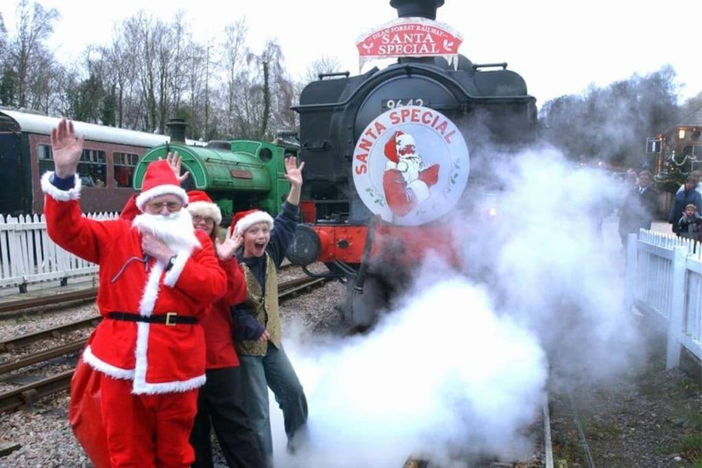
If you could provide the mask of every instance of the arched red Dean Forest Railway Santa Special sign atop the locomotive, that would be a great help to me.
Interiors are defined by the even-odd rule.
[[[400,18],[359,36],[365,58],[455,56],[463,39],[448,25],[425,18]]]

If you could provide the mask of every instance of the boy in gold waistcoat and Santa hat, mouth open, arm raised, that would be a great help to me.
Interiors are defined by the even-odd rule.
[[[307,399],[282,345],[277,269],[298,224],[302,171],[297,158],[285,160],[290,193],[281,213],[271,218],[260,210],[234,215],[234,236],[243,236],[237,258],[246,277],[246,301],[235,310],[235,345],[241,361],[244,410],[268,466],[273,462],[268,387],[283,410],[291,452],[307,439]]]

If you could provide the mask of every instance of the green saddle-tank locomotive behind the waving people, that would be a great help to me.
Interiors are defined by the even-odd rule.
[[[285,178],[286,157],[297,156],[299,146],[281,134],[277,142],[256,140],[213,140],[201,145],[185,144],[183,119],[171,119],[171,141],[150,149],[138,161],[133,176],[134,189],[140,190],[147,165],[166,154],[177,152],[183,158],[181,173],[190,175],[185,190],[204,190],[222,210],[227,225],[234,213],[251,208],[275,216],[290,191]]]

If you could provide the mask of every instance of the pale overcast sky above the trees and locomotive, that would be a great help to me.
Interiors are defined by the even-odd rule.
[[[286,67],[301,76],[322,55],[338,58],[356,74],[355,39],[397,18],[389,0],[42,0],[58,9],[50,46],[62,60],[80,59],[87,44],[107,44],[115,24],[145,9],[170,20],[187,12],[196,39],[218,40],[230,22],[246,17],[249,46],[277,37]],[[0,0],[10,32],[17,0]],[[702,1],[446,0],[437,20],[463,35],[460,52],[476,63],[508,62],[527,81],[539,106],[559,95],[580,93],[670,64],[682,98],[702,91],[698,21]],[[367,67],[367,65],[366,65]],[[365,69],[364,69],[365,70]]]

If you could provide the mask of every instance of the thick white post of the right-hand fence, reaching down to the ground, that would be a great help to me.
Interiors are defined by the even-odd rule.
[[[683,329],[685,308],[685,280],[687,279],[687,247],[673,248],[673,297],[668,319],[668,347],[665,352],[665,368],[672,369],[680,364],[680,334]]]

